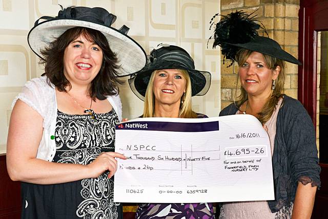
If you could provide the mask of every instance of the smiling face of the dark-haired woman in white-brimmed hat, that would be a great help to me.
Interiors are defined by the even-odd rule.
[[[103,62],[103,51],[84,35],[74,39],[64,52],[64,74],[71,84],[89,85]]]

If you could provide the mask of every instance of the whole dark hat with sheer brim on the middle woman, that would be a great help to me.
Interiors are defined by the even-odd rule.
[[[192,96],[201,96],[208,92],[211,85],[211,73],[195,69],[195,64],[189,53],[178,47],[163,44],[154,49],[148,56],[147,65],[129,79],[130,87],[142,101],[145,99],[151,74],[155,70],[180,69],[189,73]]]

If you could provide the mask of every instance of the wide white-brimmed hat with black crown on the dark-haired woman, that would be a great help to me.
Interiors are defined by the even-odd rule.
[[[39,23],[40,19],[46,21]],[[118,58],[118,65],[121,67],[117,69],[118,76],[127,76],[146,65],[146,52],[127,35],[127,26],[118,30],[111,27],[115,20],[116,16],[104,8],[65,8],[56,17],[43,16],[37,19],[28,34],[28,44],[36,55],[44,58],[41,51],[66,30],[74,27],[98,30],[106,36],[111,50]]]

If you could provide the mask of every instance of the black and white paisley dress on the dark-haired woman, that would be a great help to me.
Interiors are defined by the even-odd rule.
[[[100,152],[114,151],[115,111],[95,117],[57,112],[53,162],[87,165]],[[22,218],[121,219],[122,207],[113,202],[113,177],[109,179],[107,174],[54,185],[22,183],[26,200]]]

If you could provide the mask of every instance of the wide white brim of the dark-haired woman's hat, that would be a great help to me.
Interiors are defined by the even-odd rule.
[[[120,33],[118,30],[92,22],[80,21],[78,19],[53,19],[33,27],[28,34],[28,44],[32,51],[44,58],[41,50],[66,30],[73,27],[86,27],[98,30],[103,33],[109,43],[111,50],[117,55],[117,74],[119,77],[127,76],[139,71],[146,65],[146,52],[128,35]]]

